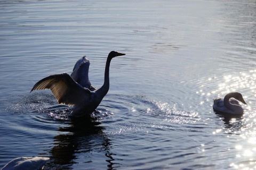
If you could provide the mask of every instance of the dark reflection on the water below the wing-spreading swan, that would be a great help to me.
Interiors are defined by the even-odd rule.
[[[76,165],[88,165],[84,168],[90,168],[91,164],[104,158],[103,155],[106,168],[112,169],[116,163],[113,163],[114,158],[110,151],[111,142],[97,118],[79,118],[65,124],[68,126],[58,129],[60,134],[54,137],[54,146],[45,150],[49,152],[50,160],[44,169],[73,169]]]

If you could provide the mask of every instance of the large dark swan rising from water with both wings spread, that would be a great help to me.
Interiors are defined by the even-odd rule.
[[[88,77],[90,62],[85,57],[78,60],[71,77],[67,73],[54,74],[38,81],[33,90],[51,89],[59,104],[72,105],[71,117],[91,114],[109,90],[109,66],[112,58],[125,55],[112,51],[108,54],[103,86],[95,89]],[[30,91],[30,92],[31,92]]]

